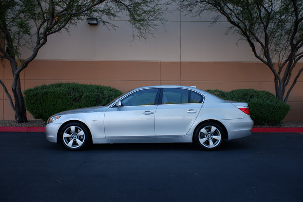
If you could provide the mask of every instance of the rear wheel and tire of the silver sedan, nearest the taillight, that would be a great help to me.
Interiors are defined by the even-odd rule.
[[[221,125],[215,122],[206,122],[195,130],[194,144],[203,150],[217,150],[223,142],[225,131]]]

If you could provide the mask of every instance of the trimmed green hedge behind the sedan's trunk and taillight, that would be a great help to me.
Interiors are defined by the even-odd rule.
[[[250,116],[255,124],[279,125],[290,110],[288,104],[267,91],[254,89],[238,89],[230,92],[222,90],[206,91],[225,100],[248,103]]]

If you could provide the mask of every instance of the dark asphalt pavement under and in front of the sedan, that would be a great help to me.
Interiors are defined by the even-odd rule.
[[[0,201],[303,201],[303,134],[253,133],[219,151],[0,132]]]

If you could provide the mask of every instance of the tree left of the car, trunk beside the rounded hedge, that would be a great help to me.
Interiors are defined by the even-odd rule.
[[[156,30],[155,21],[163,22],[165,7],[152,0],[0,0],[0,60],[9,61],[13,83],[10,96],[0,80],[16,121],[26,122],[26,109],[20,86],[20,73],[35,59],[49,35],[67,30],[87,17],[97,17],[103,25],[115,27],[109,20],[127,14],[133,37],[143,37]],[[109,20],[105,20],[109,19]],[[31,56],[22,58],[21,47],[30,48]]]

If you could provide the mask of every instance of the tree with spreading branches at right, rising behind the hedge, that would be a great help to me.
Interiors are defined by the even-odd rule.
[[[287,102],[303,71],[297,64],[303,57],[303,1],[181,0],[180,8],[195,16],[215,12],[213,23],[225,17],[231,25],[228,32],[239,34],[240,40],[248,42],[254,56],[270,68],[276,96]],[[293,70],[297,73],[287,88]]]

